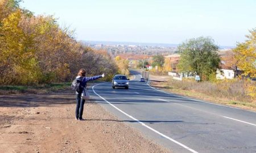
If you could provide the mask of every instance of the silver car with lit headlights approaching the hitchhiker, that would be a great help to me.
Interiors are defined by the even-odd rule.
[[[115,75],[112,79],[112,88],[124,87],[125,89],[129,89],[129,80],[125,75]]]

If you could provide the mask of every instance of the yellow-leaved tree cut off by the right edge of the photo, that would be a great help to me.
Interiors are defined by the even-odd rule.
[[[234,49],[237,59],[237,67],[243,71],[243,75],[256,77],[256,28],[249,31],[244,43],[238,43]]]

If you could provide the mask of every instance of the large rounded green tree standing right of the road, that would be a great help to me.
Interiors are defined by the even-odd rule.
[[[209,79],[219,68],[218,46],[212,38],[194,38],[183,42],[178,51],[181,54],[177,67],[180,72],[195,72],[202,79]]]

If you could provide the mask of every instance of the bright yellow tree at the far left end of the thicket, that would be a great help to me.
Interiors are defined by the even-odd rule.
[[[40,71],[38,61],[34,57],[35,49],[30,45],[32,36],[24,34],[19,22],[22,13],[16,10],[3,19],[0,28],[3,36],[0,42],[0,67],[9,70],[9,75],[3,75],[0,82],[11,81],[19,84],[28,84],[38,81]]]

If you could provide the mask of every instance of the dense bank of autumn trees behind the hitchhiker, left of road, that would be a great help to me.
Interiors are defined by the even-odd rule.
[[[96,52],[60,28],[53,16],[34,16],[19,1],[0,1],[0,85],[71,81],[80,68],[88,75],[117,73],[108,53]]]

